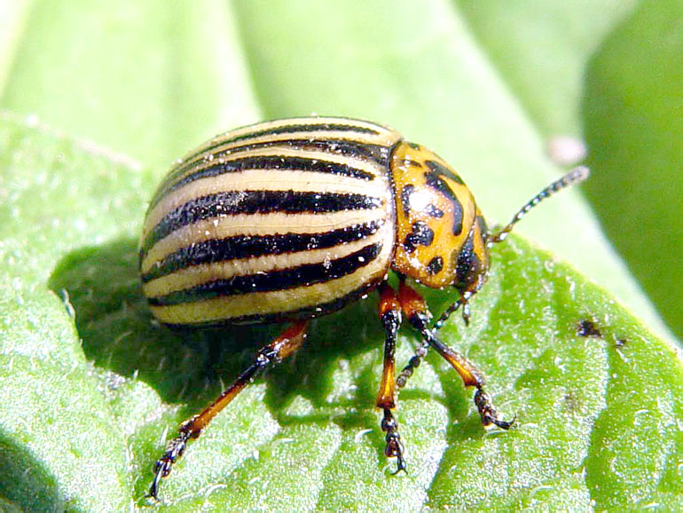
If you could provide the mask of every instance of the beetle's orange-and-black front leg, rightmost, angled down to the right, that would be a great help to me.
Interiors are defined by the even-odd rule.
[[[460,375],[466,387],[476,387],[475,406],[482,417],[483,426],[486,427],[495,424],[503,430],[510,429],[514,424],[515,419],[512,421],[503,421],[499,419],[499,414],[491,402],[491,396],[484,391],[484,385],[486,383],[482,373],[472,362],[465,358],[464,355],[441,342],[434,334],[434,330],[428,328],[431,315],[425,300],[403,280],[400,282],[398,288],[398,301],[401,303],[405,318],[422,336],[422,345],[420,345],[420,348],[416,351],[415,357],[411,359],[410,363],[401,371],[396,379],[398,386],[404,386],[405,381],[412,375],[413,369],[420,365],[420,359],[427,352],[427,347],[431,346],[451,364],[451,367]]]

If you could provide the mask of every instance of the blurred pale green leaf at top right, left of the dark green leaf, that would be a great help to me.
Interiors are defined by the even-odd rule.
[[[457,4],[538,130],[546,137],[581,138],[588,62],[638,2],[480,0]]]

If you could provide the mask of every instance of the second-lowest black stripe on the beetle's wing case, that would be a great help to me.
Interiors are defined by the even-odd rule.
[[[370,264],[381,251],[381,242],[369,244],[348,256],[319,264],[303,264],[291,269],[233,276],[228,280],[209,281],[196,287],[150,297],[153,306],[205,301],[222,296],[240,296],[252,292],[271,292],[288,288],[309,287],[315,283],[336,280]]]

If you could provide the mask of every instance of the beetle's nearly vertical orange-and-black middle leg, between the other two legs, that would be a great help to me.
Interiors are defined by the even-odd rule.
[[[380,320],[384,325],[384,370],[381,375],[380,393],[377,395],[377,407],[384,412],[381,430],[387,433],[384,454],[388,458],[396,457],[396,472],[405,470],[404,448],[398,435],[398,422],[391,413],[396,407],[396,334],[401,326],[401,304],[398,303],[394,289],[385,281],[380,286]]]

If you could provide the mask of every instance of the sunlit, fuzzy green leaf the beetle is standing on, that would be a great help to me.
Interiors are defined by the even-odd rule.
[[[155,326],[134,235],[147,175],[7,119],[0,141],[10,150],[0,161],[3,262],[15,277],[2,310],[2,454],[13,463],[0,474],[4,495],[27,509],[116,509],[126,495],[144,504],[163,439],[277,327],[178,335]],[[165,479],[167,506],[675,503],[683,379],[671,348],[528,243],[513,238],[494,258],[472,325],[452,320],[442,335],[490,376],[501,411],[517,415],[514,430],[487,435],[470,392],[433,355],[401,394],[410,473],[390,476],[373,409],[382,334],[372,298],[318,320],[296,359],[219,415]],[[429,296],[435,311],[452,299]],[[586,319],[601,336],[577,335]],[[399,362],[411,341],[402,335]]]

